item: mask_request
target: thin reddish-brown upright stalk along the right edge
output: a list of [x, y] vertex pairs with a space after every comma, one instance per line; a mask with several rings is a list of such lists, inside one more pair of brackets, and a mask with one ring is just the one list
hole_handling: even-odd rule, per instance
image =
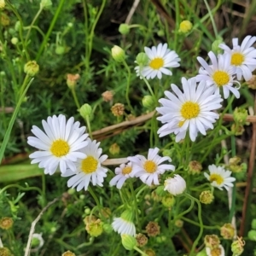
[[[254, 113], [256, 112], [256, 96], [254, 98]], [[250, 158], [249, 158], [249, 165], [248, 165], [248, 172], [247, 172], [247, 187], [245, 190], [243, 206], [242, 206], [242, 214], [241, 214], [241, 226], [239, 230], [240, 236], [243, 236], [245, 225], [246, 225], [246, 216], [247, 216], [247, 204], [248, 204], [248, 197], [250, 195], [251, 184], [253, 181], [253, 169], [255, 165], [255, 146], [256, 146], [256, 124], [253, 124], [253, 135], [251, 139], [251, 150], [250, 151]]]

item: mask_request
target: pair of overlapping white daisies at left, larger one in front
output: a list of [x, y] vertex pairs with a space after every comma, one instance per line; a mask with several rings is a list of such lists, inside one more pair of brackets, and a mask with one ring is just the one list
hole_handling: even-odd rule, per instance
[[86, 128], [74, 122], [73, 117], [66, 121], [63, 114], [48, 117], [47, 121], [42, 121], [42, 125], [44, 131], [33, 125], [35, 137], [27, 138], [29, 145], [39, 149], [29, 155], [32, 164], [38, 163], [40, 168], [44, 168], [44, 173], [49, 175], [60, 170], [61, 177], [71, 177], [67, 186], [77, 187], [78, 191], [87, 190], [90, 182], [94, 186], [102, 186], [108, 172], [102, 162], [108, 156], [102, 155], [100, 143], [90, 140], [85, 133]]

